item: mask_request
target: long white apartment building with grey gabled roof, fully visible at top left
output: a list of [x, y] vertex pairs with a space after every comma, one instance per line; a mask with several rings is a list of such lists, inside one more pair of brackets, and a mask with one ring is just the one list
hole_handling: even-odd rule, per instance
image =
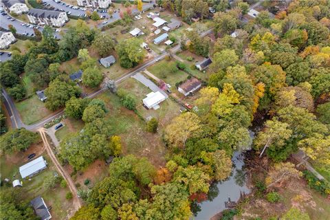
[[66, 12], [32, 8], [28, 12], [30, 23], [62, 27], [69, 19]]

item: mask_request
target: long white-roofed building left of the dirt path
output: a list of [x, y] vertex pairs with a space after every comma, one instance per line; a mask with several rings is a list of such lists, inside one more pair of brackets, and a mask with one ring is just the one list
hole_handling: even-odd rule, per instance
[[47, 162], [43, 159], [43, 156], [41, 156], [21, 166], [19, 168], [19, 173], [21, 173], [24, 179], [25, 177], [33, 177], [42, 170], [45, 170], [45, 168], [47, 168]]

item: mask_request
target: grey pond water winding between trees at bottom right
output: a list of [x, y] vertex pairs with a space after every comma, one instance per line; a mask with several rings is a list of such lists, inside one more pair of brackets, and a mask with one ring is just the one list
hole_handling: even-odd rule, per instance
[[225, 201], [237, 201], [241, 192], [248, 194], [250, 189], [246, 186], [246, 173], [244, 170], [244, 153], [235, 152], [232, 157], [232, 174], [224, 181], [214, 182], [210, 186], [208, 200], [195, 203], [192, 207], [197, 212], [195, 220], [208, 220], [215, 214], [225, 210]]

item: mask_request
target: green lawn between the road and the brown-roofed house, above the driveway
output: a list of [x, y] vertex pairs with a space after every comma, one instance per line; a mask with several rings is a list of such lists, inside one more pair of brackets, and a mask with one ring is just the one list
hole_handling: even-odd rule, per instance
[[175, 73], [169, 72], [168, 65], [172, 63], [174, 63], [174, 61], [159, 61], [159, 63], [148, 67], [148, 71], [151, 72], [151, 74], [157, 76], [158, 78], [164, 80], [172, 87], [175, 87], [175, 83], [179, 83], [180, 81], [186, 80], [188, 74], [180, 70]]

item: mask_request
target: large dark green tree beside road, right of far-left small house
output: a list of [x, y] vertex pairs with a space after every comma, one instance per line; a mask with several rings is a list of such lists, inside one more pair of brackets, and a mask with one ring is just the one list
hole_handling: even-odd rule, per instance
[[65, 106], [65, 102], [72, 97], [78, 97], [81, 91], [69, 77], [60, 75], [53, 80], [49, 87], [45, 89], [45, 96], [47, 96], [45, 106], [52, 111]]

